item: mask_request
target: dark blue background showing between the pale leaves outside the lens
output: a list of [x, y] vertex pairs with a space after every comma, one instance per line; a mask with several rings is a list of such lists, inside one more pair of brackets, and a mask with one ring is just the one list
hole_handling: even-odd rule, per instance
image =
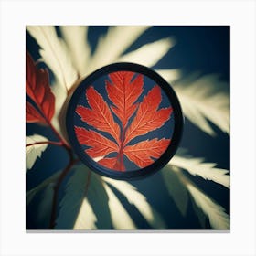
[[[107, 27], [89, 28], [89, 42], [92, 50], [95, 49], [99, 37], [106, 32]], [[214, 73], [219, 74], [220, 80], [229, 83], [228, 26], [151, 27], [127, 49], [127, 52], [164, 37], [175, 37], [176, 46], [153, 69], [182, 69], [184, 76], [193, 72], [199, 72], [201, 75]], [[34, 59], [38, 59], [36, 41], [28, 34], [26, 38], [27, 50]], [[181, 147], [186, 148], [189, 155], [204, 157], [207, 162], [218, 163], [218, 167], [229, 169], [229, 135], [222, 133], [214, 125], [213, 127], [217, 133], [215, 137], [202, 133], [194, 124], [186, 120]], [[27, 135], [33, 133], [41, 133], [49, 139], [55, 139], [46, 127], [41, 128], [35, 124], [27, 124]], [[63, 168], [67, 161], [68, 158], [65, 151], [49, 146], [48, 150], [42, 155], [42, 159], [38, 159], [33, 169], [27, 173], [27, 189], [35, 187], [45, 177]], [[198, 176], [189, 177], [229, 213], [229, 189], [221, 187], [214, 182], [205, 181]], [[154, 176], [146, 177], [144, 180], [131, 183], [133, 186], [138, 187], [139, 191], [148, 198], [149, 203], [162, 214], [168, 229], [200, 229], [191, 202], [188, 205], [187, 217], [182, 217], [173, 199], [168, 196], [161, 174], [157, 173]], [[124, 206], [132, 214], [138, 227], [140, 229], [149, 229], [137, 209], [128, 207], [127, 199], [120, 195], [118, 191], [116, 193], [123, 200]], [[46, 223], [35, 222], [34, 211], [35, 207], [27, 208], [27, 228], [44, 228]]]

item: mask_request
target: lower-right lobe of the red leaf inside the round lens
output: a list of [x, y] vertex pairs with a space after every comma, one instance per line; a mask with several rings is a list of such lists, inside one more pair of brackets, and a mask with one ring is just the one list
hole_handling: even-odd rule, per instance
[[127, 145], [123, 149], [123, 153], [134, 164], [143, 168], [147, 165], [151, 165], [155, 160], [152, 157], [158, 159], [166, 150], [170, 144], [170, 139], [153, 139], [146, 140], [134, 145]]

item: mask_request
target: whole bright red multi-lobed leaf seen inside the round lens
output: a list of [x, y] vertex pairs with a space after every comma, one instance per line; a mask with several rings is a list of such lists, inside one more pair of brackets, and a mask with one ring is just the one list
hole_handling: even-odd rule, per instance
[[[91, 129], [75, 126], [79, 143], [88, 147], [85, 153], [98, 164], [116, 171], [126, 170], [124, 155], [140, 168], [151, 165], [171, 142], [166, 138], [139, 139], [162, 127], [171, 117], [171, 107], [159, 109], [161, 88], [155, 85], [143, 97], [143, 75], [118, 71], [109, 75], [105, 89], [112, 104], [90, 86], [85, 91], [90, 107], [79, 105], [76, 108], [80, 120], [91, 126]], [[120, 123], [116, 122], [117, 118]], [[111, 137], [106, 137], [106, 133]], [[136, 143], [133, 143], [135, 138]]]

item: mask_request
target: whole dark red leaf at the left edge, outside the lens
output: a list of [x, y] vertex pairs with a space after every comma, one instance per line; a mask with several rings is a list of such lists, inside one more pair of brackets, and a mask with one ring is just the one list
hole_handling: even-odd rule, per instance
[[26, 102], [27, 123], [49, 123], [55, 111], [55, 98], [49, 87], [48, 70], [37, 65], [26, 52], [26, 93], [34, 101], [34, 107]]

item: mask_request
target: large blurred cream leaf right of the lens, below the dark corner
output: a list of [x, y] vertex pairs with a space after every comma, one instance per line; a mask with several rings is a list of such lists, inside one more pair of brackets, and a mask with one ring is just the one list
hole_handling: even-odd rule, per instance
[[210, 123], [229, 133], [229, 86], [216, 75], [205, 75], [174, 84], [183, 112], [202, 131], [214, 135]]

